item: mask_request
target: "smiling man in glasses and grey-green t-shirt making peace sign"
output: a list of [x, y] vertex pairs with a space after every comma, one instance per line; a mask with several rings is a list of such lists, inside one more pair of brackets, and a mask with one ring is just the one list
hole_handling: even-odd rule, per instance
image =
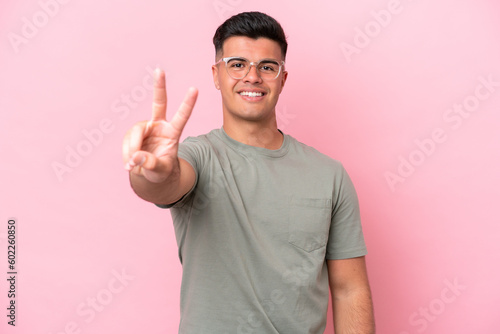
[[[277, 21], [231, 17], [215, 33], [223, 126], [179, 144], [197, 90], [124, 140], [138, 196], [171, 208], [183, 265], [179, 333], [374, 333], [356, 193], [342, 165], [277, 128], [287, 42]], [[329, 283], [329, 284], [328, 284]]]

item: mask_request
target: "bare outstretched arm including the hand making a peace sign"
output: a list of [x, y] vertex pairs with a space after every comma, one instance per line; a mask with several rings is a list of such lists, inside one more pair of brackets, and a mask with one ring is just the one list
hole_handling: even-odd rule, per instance
[[135, 124], [123, 141], [123, 160], [130, 185], [142, 199], [156, 204], [179, 200], [194, 185], [193, 167], [177, 156], [179, 140], [196, 102], [196, 89], [188, 90], [170, 122], [166, 120], [165, 73], [156, 70], [153, 117]]

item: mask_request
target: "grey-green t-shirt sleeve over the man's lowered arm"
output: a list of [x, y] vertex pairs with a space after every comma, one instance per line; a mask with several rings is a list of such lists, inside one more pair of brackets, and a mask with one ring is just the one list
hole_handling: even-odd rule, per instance
[[361, 227], [358, 196], [343, 166], [335, 178], [334, 192], [326, 258], [338, 260], [364, 256], [367, 249]]

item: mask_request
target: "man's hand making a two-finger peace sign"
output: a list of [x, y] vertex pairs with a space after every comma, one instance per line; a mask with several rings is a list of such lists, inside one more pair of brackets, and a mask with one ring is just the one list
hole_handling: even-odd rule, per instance
[[189, 88], [179, 109], [167, 122], [167, 90], [165, 73], [155, 70], [153, 117], [135, 124], [123, 140], [123, 160], [130, 173], [160, 183], [179, 171], [177, 151], [182, 130], [198, 97], [196, 88]]

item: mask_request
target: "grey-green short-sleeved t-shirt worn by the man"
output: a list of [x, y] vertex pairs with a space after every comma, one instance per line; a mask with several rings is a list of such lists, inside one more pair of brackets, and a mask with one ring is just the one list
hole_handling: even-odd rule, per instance
[[193, 189], [170, 207], [183, 266], [181, 334], [323, 334], [326, 259], [363, 256], [343, 166], [289, 135], [281, 148], [223, 129], [187, 138]]

